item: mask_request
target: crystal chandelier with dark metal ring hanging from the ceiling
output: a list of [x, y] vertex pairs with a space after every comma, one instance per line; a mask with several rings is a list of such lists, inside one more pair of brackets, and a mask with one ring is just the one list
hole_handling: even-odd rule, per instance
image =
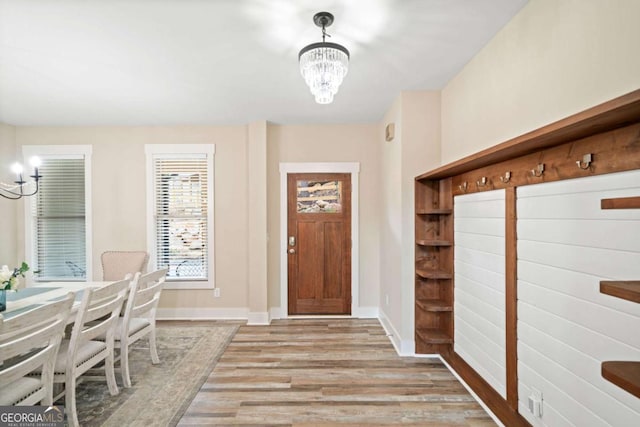
[[325, 37], [331, 37], [325, 28], [333, 23], [332, 14], [316, 13], [313, 22], [322, 28], [322, 42], [312, 43], [300, 51], [300, 72], [316, 102], [331, 104], [349, 71], [349, 51], [342, 45], [324, 41]]

